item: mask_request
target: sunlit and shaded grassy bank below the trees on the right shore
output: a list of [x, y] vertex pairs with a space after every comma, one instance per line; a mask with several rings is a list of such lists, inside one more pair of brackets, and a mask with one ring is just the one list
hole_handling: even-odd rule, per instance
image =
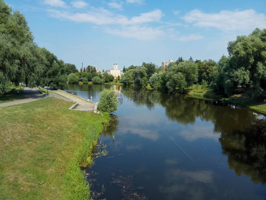
[[185, 92], [188, 96], [194, 98], [223, 100], [230, 104], [246, 106], [250, 109], [266, 114], [266, 104], [264, 103], [265, 97], [263, 96], [251, 100], [245, 93], [240, 93], [224, 98], [221, 94], [213, 92], [210, 87], [201, 88], [201, 85], [193, 85], [187, 88]]

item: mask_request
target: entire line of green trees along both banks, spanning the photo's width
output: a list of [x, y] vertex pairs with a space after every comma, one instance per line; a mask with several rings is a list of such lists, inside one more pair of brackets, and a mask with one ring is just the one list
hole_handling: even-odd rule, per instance
[[[166, 92], [183, 92], [192, 84], [200, 84], [227, 96], [239, 88], [251, 98], [264, 94], [266, 29], [256, 28], [248, 36], [237, 36], [228, 43], [227, 50], [229, 56], [221, 56], [218, 62], [179, 57], [165, 68], [152, 62], [124, 67], [121, 82], [136, 87], [147, 87], [150, 83], [152, 88]], [[106, 72], [97, 73], [90, 65], [78, 72], [74, 64], [64, 63], [47, 49], [38, 47], [24, 15], [0, 0], [0, 95], [19, 83], [64, 89], [67, 81], [101, 84], [114, 81], [114, 77]]]

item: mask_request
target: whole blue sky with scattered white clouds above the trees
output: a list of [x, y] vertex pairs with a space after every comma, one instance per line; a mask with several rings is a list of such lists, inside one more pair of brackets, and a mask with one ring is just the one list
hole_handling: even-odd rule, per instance
[[[218, 61], [237, 35], [266, 28], [266, 1], [6, 0], [24, 13], [40, 47], [80, 69]], [[78, 46], [74, 41], [80, 46]], [[82, 49], [95, 61], [93, 61]]]

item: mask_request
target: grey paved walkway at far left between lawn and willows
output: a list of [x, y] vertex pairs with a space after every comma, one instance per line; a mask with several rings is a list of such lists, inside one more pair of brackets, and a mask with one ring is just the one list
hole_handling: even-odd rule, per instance
[[35, 88], [30, 90], [29, 87], [24, 87], [24, 94], [25, 94], [24, 99], [19, 99], [19, 100], [14, 100], [14, 101], [2, 103], [2, 104], [0, 104], [0, 108], [6, 107], [6, 106], [11, 106], [11, 105], [24, 104], [24, 103], [36, 101], [38, 99], [42, 99], [45, 97], [39, 91], [37, 91]]

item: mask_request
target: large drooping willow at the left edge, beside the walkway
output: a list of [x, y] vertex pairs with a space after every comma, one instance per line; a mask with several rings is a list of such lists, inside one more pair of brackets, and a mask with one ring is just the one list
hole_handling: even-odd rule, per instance
[[37, 85], [44, 61], [25, 17], [0, 0], [0, 94], [10, 91], [11, 82]]

